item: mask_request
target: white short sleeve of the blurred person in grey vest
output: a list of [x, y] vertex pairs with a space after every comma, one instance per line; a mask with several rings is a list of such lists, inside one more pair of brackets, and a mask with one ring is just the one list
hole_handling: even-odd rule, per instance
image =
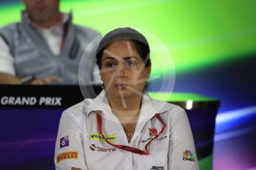
[[6, 72], [10, 75], [16, 75], [13, 66], [13, 56], [10, 54], [10, 49], [0, 36], [0, 72]]

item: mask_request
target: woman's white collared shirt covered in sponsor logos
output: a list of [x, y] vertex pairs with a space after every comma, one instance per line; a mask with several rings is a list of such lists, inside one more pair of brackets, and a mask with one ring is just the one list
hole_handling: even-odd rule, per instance
[[[114, 144], [145, 150], [146, 144], [160, 133], [163, 123], [154, 115], [160, 113], [165, 131], [149, 146], [149, 155], [136, 154], [106, 143], [100, 135], [96, 112], [102, 112], [102, 132]], [[142, 98], [140, 117], [130, 143], [118, 118], [111, 112], [105, 90], [95, 99], [85, 99], [62, 113], [56, 139], [56, 169], [198, 169], [191, 128], [184, 109], [156, 101], [146, 93]]]

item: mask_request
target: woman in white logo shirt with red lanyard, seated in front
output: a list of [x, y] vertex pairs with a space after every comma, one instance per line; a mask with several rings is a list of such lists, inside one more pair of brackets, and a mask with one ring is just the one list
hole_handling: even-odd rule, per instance
[[131, 28], [99, 43], [103, 82], [94, 99], [65, 110], [56, 140], [56, 169], [198, 169], [186, 112], [151, 99], [145, 37]]

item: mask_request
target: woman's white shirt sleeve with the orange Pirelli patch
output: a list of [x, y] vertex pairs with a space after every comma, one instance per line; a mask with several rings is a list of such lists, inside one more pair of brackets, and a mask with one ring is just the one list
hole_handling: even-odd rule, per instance
[[72, 167], [88, 170], [85, 165], [82, 128], [70, 112], [63, 112], [56, 138], [54, 163], [56, 169]]

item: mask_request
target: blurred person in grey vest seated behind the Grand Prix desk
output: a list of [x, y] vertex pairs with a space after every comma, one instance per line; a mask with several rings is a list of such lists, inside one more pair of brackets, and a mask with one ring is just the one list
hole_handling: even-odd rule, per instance
[[[22, 21], [0, 29], [0, 84], [78, 84], [82, 55], [99, 33], [72, 24], [59, 0], [23, 0]], [[96, 46], [96, 44], [95, 44]], [[88, 72], [88, 82], [96, 81]]]

